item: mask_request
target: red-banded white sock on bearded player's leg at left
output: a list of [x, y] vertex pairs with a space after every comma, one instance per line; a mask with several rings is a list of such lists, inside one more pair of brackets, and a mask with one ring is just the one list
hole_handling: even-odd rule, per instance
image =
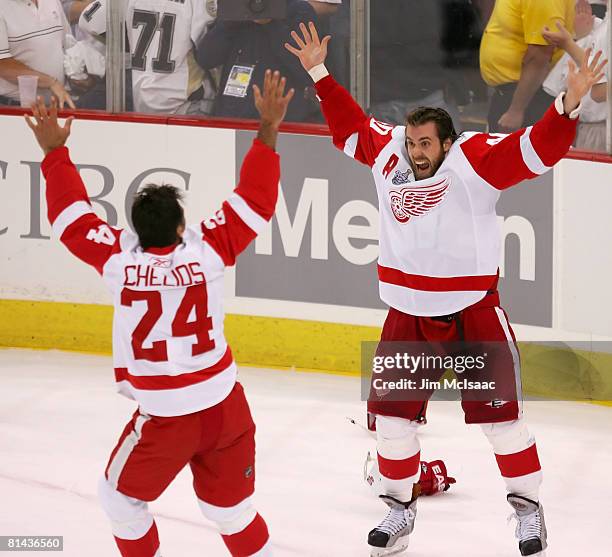
[[378, 469], [385, 495], [402, 502], [412, 499], [421, 475], [418, 424], [402, 418], [377, 416]]

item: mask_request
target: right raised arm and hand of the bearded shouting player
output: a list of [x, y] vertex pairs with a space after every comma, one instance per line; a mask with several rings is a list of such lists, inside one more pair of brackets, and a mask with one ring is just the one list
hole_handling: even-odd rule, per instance
[[569, 150], [578, 123], [579, 105], [603, 76], [607, 60], [601, 51], [589, 63], [591, 50], [580, 69], [569, 61], [567, 92], [533, 126], [510, 135], [476, 134], [461, 144], [474, 171], [497, 189], [505, 189], [550, 170]]

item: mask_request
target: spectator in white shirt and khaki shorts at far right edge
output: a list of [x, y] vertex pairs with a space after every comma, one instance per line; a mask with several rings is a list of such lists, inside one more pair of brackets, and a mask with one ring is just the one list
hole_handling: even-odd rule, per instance
[[[578, 32], [576, 26], [577, 41], [574, 41], [569, 31], [560, 23], [556, 30], [546, 27], [542, 34], [546, 40], [565, 51], [563, 57], [557, 62], [549, 76], [544, 81], [544, 89], [551, 95], [557, 95], [567, 89], [567, 75], [569, 72], [569, 60], [579, 63], [584, 57], [585, 50], [591, 48], [593, 52], [601, 50], [603, 58], [609, 58], [610, 38], [608, 35], [608, 17], [605, 19], [594, 18], [591, 6], [586, 0], [579, 1], [576, 5], [576, 23], [579, 18], [585, 18], [585, 23], [590, 21], [588, 34]], [[583, 35], [580, 38], [580, 35]], [[608, 73], [609, 73], [608, 68]], [[598, 84], [593, 86], [590, 95], [582, 99], [580, 111], [580, 122], [576, 133], [575, 147], [587, 151], [606, 150], [606, 120], [608, 118], [607, 79], [604, 77]]]

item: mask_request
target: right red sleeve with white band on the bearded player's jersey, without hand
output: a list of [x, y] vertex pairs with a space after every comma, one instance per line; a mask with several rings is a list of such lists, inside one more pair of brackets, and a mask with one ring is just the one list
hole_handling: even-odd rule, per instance
[[579, 109], [569, 116], [563, 93], [533, 126], [509, 135], [478, 133], [461, 144], [476, 173], [503, 190], [548, 172], [569, 151], [576, 135]]

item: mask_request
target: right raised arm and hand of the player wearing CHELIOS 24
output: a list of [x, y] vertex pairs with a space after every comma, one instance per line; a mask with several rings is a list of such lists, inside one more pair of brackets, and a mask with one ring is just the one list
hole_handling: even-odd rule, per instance
[[275, 152], [278, 128], [295, 91], [285, 95], [286, 79], [266, 71], [263, 92], [253, 86], [255, 106], [261, 116], [259, 133], [240, 170], [240, 182], [221, 210], [202, 221], [202, 238], [233, 265], [236, 257], [272, 218], [278, 198], [280, 162]]

